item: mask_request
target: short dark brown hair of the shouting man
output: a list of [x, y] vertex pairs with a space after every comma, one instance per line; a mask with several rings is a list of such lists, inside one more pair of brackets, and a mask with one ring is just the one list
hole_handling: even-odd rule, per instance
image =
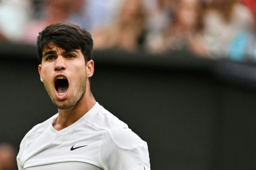
[[93, 39], [84, 28], [68, 22], [47, 26], [37, 37], [38, 59], [42, 63], [43, 49], [52, 42], [64, 50], [81, 49], [85, 62], [92, 59]]

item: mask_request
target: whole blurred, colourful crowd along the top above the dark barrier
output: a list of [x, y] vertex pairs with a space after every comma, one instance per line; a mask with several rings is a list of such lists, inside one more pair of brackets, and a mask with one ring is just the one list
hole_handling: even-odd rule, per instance
[[35, 45], [47, 25], [86, 28], [94, 49], [256, 61], [255, 0], [0, 0], [0, 40]]

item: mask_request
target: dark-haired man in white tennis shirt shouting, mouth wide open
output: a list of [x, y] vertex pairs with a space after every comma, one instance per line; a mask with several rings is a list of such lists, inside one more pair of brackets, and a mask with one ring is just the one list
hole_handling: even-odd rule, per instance
[[39, 33], [37, 47], [40, 79], [58, 113], [25, 135], [19, 169], [150, 170], [147, 143], [91, 94], [91, 35], [55, 23]]

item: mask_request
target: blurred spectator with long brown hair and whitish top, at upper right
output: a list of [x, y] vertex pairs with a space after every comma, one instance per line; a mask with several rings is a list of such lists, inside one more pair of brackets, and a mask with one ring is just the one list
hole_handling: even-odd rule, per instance
[[252, 23], [250, 11], [239, 0], [209, 1], [202, 36], [209, 56], [216, 59], [226, 57], [237, 32], [250, 30]]

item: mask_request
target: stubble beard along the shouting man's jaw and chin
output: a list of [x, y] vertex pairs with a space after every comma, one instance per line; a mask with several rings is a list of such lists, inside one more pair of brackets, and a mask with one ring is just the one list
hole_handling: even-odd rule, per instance
[[69, 109], [69, 108], [72, 108], [74, 105], [78, 104], [83, 99], [86, 92], [86, 78], [82, 82], [80, 82], [79, 87], [77, 88], [78, 89], [77, 96], [73, 96], [67, 104], [58, 104], [58, 102], [53, 98], [55, 91], [52, 91], [51, 88], [46, 83], [44, 83], [44, 87], [49, 97], [51, 98], [51, 100], [53, 101], [53, 103], [56, 105], [58, 109]]

